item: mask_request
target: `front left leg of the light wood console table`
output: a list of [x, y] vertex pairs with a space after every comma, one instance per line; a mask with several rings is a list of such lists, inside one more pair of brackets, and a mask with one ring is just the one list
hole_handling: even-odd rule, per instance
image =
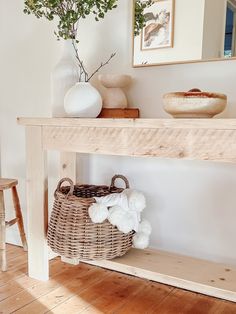
[[42, 127], [26, 128], [28, 272], [48, 280], [49, 261], [46, 232], [48, 226], [47, 155], [43, 149]]

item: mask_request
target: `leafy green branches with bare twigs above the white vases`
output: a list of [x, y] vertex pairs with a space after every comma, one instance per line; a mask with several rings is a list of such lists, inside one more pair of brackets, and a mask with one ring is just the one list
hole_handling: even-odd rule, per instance
[[49, 21], [58, 19], [57, 31], [55, 35], [57, 39], [72, 39], [75, 50], [75, 56], [80, 69], [80, 79], [84, 76], [88, 81], [102, 67], [105, 66], [114, 56], [101, 63], [101, 65], [88, 75], [83, 62], [81, 61], [77, 49], [78, 26], [81, 19], [85, 19], [88, 15], [93, 14], [95, 20], [103, 19], [108, 11], [117, 7], [118, 0], [24, 0], [24, 13], [34, 14], [37, 18], [46, 18]]

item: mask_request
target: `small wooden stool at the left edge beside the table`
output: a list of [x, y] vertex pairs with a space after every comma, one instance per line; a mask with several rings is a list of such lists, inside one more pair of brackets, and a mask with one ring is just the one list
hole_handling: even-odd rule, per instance
[[[18, 229], [20, 232], [21, 241], [23, 244], [23, 248], [27, 251], [27, 242], [25, 237], [24, 231], [24, 224], [23, 218], [20, 208], [20, 201], [16, 189], [16, 185], [18, 181], [15, 179], [2, 179], [0, 178], [0, 259], [1, 263], [1, 270], [7, 270], [7, 262], [6, 262], [6, 227], [10, 227], [17, 223]], [[3, 191], [11, 189], [12, 192], [12, 199], [15, 208], [16, 218], [12, 219], [11, 221], [5, 221], [5, 206], [4, 206], [4, 195]]]

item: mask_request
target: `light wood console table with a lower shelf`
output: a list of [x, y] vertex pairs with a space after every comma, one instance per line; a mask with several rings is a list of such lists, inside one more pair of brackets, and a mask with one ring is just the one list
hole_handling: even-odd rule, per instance
[[[47, 151], [75, 180], [76, 153], [236, 162], [236, 119], [19, 118], [26, 127], [29, 276], [47, 280]], [[132, 249], [94, 265], [236, 302], [236, 267], [158, 250]]]

